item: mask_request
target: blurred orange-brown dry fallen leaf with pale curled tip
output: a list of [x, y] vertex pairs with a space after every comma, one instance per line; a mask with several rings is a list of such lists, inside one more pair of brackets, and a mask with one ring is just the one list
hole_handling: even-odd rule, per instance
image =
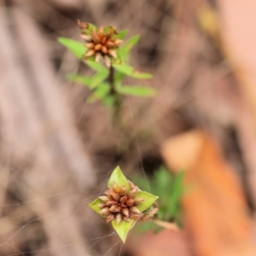
[[162, 155], [172, 170], [186, 170], [183, 210], [195, 253], [256, 255], [239, 178], [218, 143], [204, 131], [190, 131], [167, 140]]

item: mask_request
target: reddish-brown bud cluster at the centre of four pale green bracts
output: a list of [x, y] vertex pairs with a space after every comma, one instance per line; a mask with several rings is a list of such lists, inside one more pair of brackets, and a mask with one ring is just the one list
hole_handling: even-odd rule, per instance
[[143, 213], [137, 208], [141, 202], [144, 201], [143, 198], [136, 198], [138, 187], [129, 181], [130, 191], [126, 191], [125, 186], [119, 188], [117, 184], [114, 184], [113, 188], [110, 188], [104, 192], [105, 195], [99, 196], [102, 200], [102, 204], [98, 207], [102, 208], [101, 214], [107, 217], [106, 222], [112, 221], [114, 218], [116, 222], [119, 223], [122, 219], [129, 222], [129, 218], [143, 217]]

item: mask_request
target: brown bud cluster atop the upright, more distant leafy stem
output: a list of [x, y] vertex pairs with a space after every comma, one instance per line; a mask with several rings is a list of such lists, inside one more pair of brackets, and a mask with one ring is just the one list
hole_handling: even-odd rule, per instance
[[85, 46], [87, 51], [84, 57], [90, 57], [95, 55], [95, 61], [103, 59], [107, 67], [110, 67], [111, 57], [117, 58], [116, 49], [119, 44], [123, 42], [116, 38], [117, 32], [113, 27], [109, 28], [108, 32], [104, 32], [103, 28], [95, 29], [92, 32], [88, 31], [89, 24], [81, 20], [78, 20], [78, 24], [81, 30], [81, 38], [86, 41]]

